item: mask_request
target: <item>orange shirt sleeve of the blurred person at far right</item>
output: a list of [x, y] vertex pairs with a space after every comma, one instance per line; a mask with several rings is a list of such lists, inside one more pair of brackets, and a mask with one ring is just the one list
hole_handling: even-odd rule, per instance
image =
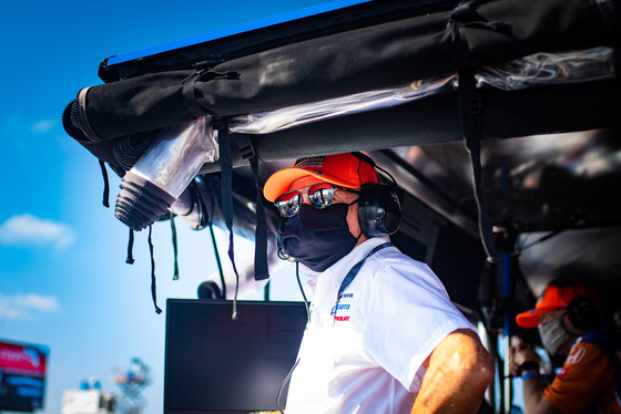
[[583, 413], [601, 399], [614, 375], [602, 350], [590, 342], [578, 342], [543, 396], [563, 413]]

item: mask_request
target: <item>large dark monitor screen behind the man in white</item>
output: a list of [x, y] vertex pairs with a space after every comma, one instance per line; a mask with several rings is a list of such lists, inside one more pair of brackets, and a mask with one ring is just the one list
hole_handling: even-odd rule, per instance
[[[169, 299], [164, 414], [277, 410], [307, 317], [303, 302]], [[281, 405], [286, 404], [287, 387]]]

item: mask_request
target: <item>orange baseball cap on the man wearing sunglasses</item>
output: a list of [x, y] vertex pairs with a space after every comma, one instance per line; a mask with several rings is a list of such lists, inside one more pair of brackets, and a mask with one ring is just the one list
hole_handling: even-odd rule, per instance
[[267, 178], [263, 195], [267, 200], [275, 201], [289, 190], [293, 182], [306, 176], [345, 188], [360, 188], [365, 183], [377, 183], [377, 174], [371, 164], [352, 153], [345, 153], [297, 159], [293, 167], [281, 169]]

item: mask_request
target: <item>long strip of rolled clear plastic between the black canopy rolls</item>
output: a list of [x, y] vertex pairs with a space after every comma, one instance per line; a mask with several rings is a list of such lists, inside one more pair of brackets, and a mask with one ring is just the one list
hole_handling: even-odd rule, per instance
[[[476, 72], [477, 87], [505, 91], [540, 85], [593, 82], [614, 77], [613, 49], [600, 46], [566, 53], [536, 53], [508, 63], [483, 66]], [[389, 90], [369, 91], [333, 100], [235, 116], [228, 127], [234, 133], [268, 134], [330, 117], [400, 105], [457, 89], [457, 73], [411, 82]]]

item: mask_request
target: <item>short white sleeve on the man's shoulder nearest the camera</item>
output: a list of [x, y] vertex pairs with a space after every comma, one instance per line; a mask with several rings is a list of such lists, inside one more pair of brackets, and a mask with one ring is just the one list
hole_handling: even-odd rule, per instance
[[[379, 259], [379, 258], [378, 258]], [[457, 329], [472, 327], [450, 302], [444, 284], [425, 263], [388, 256], [369, 263], [363, 335], [365, 349], [408, 391], [436, 346]]]

